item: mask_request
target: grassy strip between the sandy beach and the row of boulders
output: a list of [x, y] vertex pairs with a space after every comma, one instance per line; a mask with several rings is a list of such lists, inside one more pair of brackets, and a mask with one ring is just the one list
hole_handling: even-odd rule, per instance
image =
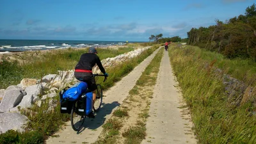
[[[134, 50], [133, 47], [120, 47], [119, 49], [97, 49], [100, 60], [112, 58]], [[0, 62], [0, 89], [12, 84], [19, 84], [22, 78], [40, 79], [47, 74], [58, 74], [58, 70], [74, 69], [81, 54], [88, 49], [65, 49], [42, 54], [40, 51], [24, 52], [23, 63], [3, 60]], [[34, 56], [34, 55], [41, 56]]]

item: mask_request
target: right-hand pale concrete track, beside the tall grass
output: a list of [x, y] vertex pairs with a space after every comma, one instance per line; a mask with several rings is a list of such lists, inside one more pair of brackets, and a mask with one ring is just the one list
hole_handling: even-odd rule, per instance
[[175, 87], [168, 52], [164, 51], [147, 119], [147, 137], [142, 143], [196, 143], [188, 109], [180, 109], [182, 95]]

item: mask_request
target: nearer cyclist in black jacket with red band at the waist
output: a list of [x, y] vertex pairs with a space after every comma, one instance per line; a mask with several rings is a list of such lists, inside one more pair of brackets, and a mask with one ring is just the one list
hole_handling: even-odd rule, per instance
[[[79, 81], [85, 81], [88, 84], [88, 89], [93, 92], [93, 106], [96, 100], [97, 89], [95, 77], [92, 76], [92, 68], [95, 66], [95, 64], [97, 64], [104, 76], [108, 77], [108, 73], [106, 73], [104, 67], [102, 66], [97, 53], [98, 52], [95, 47], [90, 47], [88, 53], [81, 55], [74, 72], [76, 79]], [[94, 118], [93, 113], [90, 113], [90, 116]]]

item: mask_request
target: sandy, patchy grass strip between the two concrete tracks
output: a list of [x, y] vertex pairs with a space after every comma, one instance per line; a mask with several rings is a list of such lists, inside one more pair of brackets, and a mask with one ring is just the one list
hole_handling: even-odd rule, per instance
[[122, 105], [104, 124], [95, 144], [98, 143], [141, 143], [145, 139], [146, 122], [152, 99], [154, 85], [163, 57], [163, 49], [157, 52], [154, 59], [142, 73], [136, 85], [129, 92]]

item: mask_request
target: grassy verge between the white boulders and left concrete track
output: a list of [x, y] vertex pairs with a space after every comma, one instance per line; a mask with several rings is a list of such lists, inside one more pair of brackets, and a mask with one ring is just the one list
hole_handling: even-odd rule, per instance
[[[103, 79], [101, 78], [97, 79], [97, 83], [102, 84], [104, 89], [113, 86], [116, 81], [119, 81], [122, 77], [129, 74], [129, 72], [131, 72], [131, 70], [136, 67], [136, 65], [141, 63], [141, 61], [143, 61], [145, 58], [147, 58], [147, 56], [152, 54], [152, 52], [154, 52], [158, 47], [158, 45], [155, 45], [151, 49], [148, 49], [141, 53], [140, 56], [132, 58], [125, 63], [121, 63], [116, 67], [107, 69], [109, 77], [106, 83], [103, 83]], [[129, 63], [132, 64], [128, 65]], [[57, 104], [57, 107], [54, 108], [53, 111], [48, 111], [49, 103], [47, 102], [47, 100], [42, 104], [41, 107], [38, 107], [35, 104], [32, 108], [29, 109], [29, 111], [21, 111], [21, 113], [28, 116], [29, 119], [28, 125], [26, 125], [26, 130], [28, 130], [26, 133], [31, 134], [31, 136], [33, 136], [33, 132], [36, 132], [36, 134], [39, 133], [40, 136], [42, 136], [42, 138], [46, 140], [48, 136], [51, 136], [52, 134], [54, 134], [54, 132], [58, 131], [58, 129], [60, 129], [64, 122], [68, 120], [69, 115], [60, 113], [60, 97], [56, 95], [56, 97], [54, 97], [54, 100]], [[10, 132], [12, 131], [8, 131], [6, 132], [6, 134], [9, 134]], [[6, 134], [0, 134], [0, 143], [1, 140], [9, 140], [8, 137], [6, 137]], [[19, 132], [15, 132], [14, 134], [19, 136], [20, 138], [24, 138], [22, 137], [23, 135]], [[13, 139], [11, 139], [10, 141], [12, 140]], [[20, 143], [20, 139], [18, 138], [17, 141], [15, 141], [14, 143]], [[37, 142], [31, 141], [31, 143]]]

